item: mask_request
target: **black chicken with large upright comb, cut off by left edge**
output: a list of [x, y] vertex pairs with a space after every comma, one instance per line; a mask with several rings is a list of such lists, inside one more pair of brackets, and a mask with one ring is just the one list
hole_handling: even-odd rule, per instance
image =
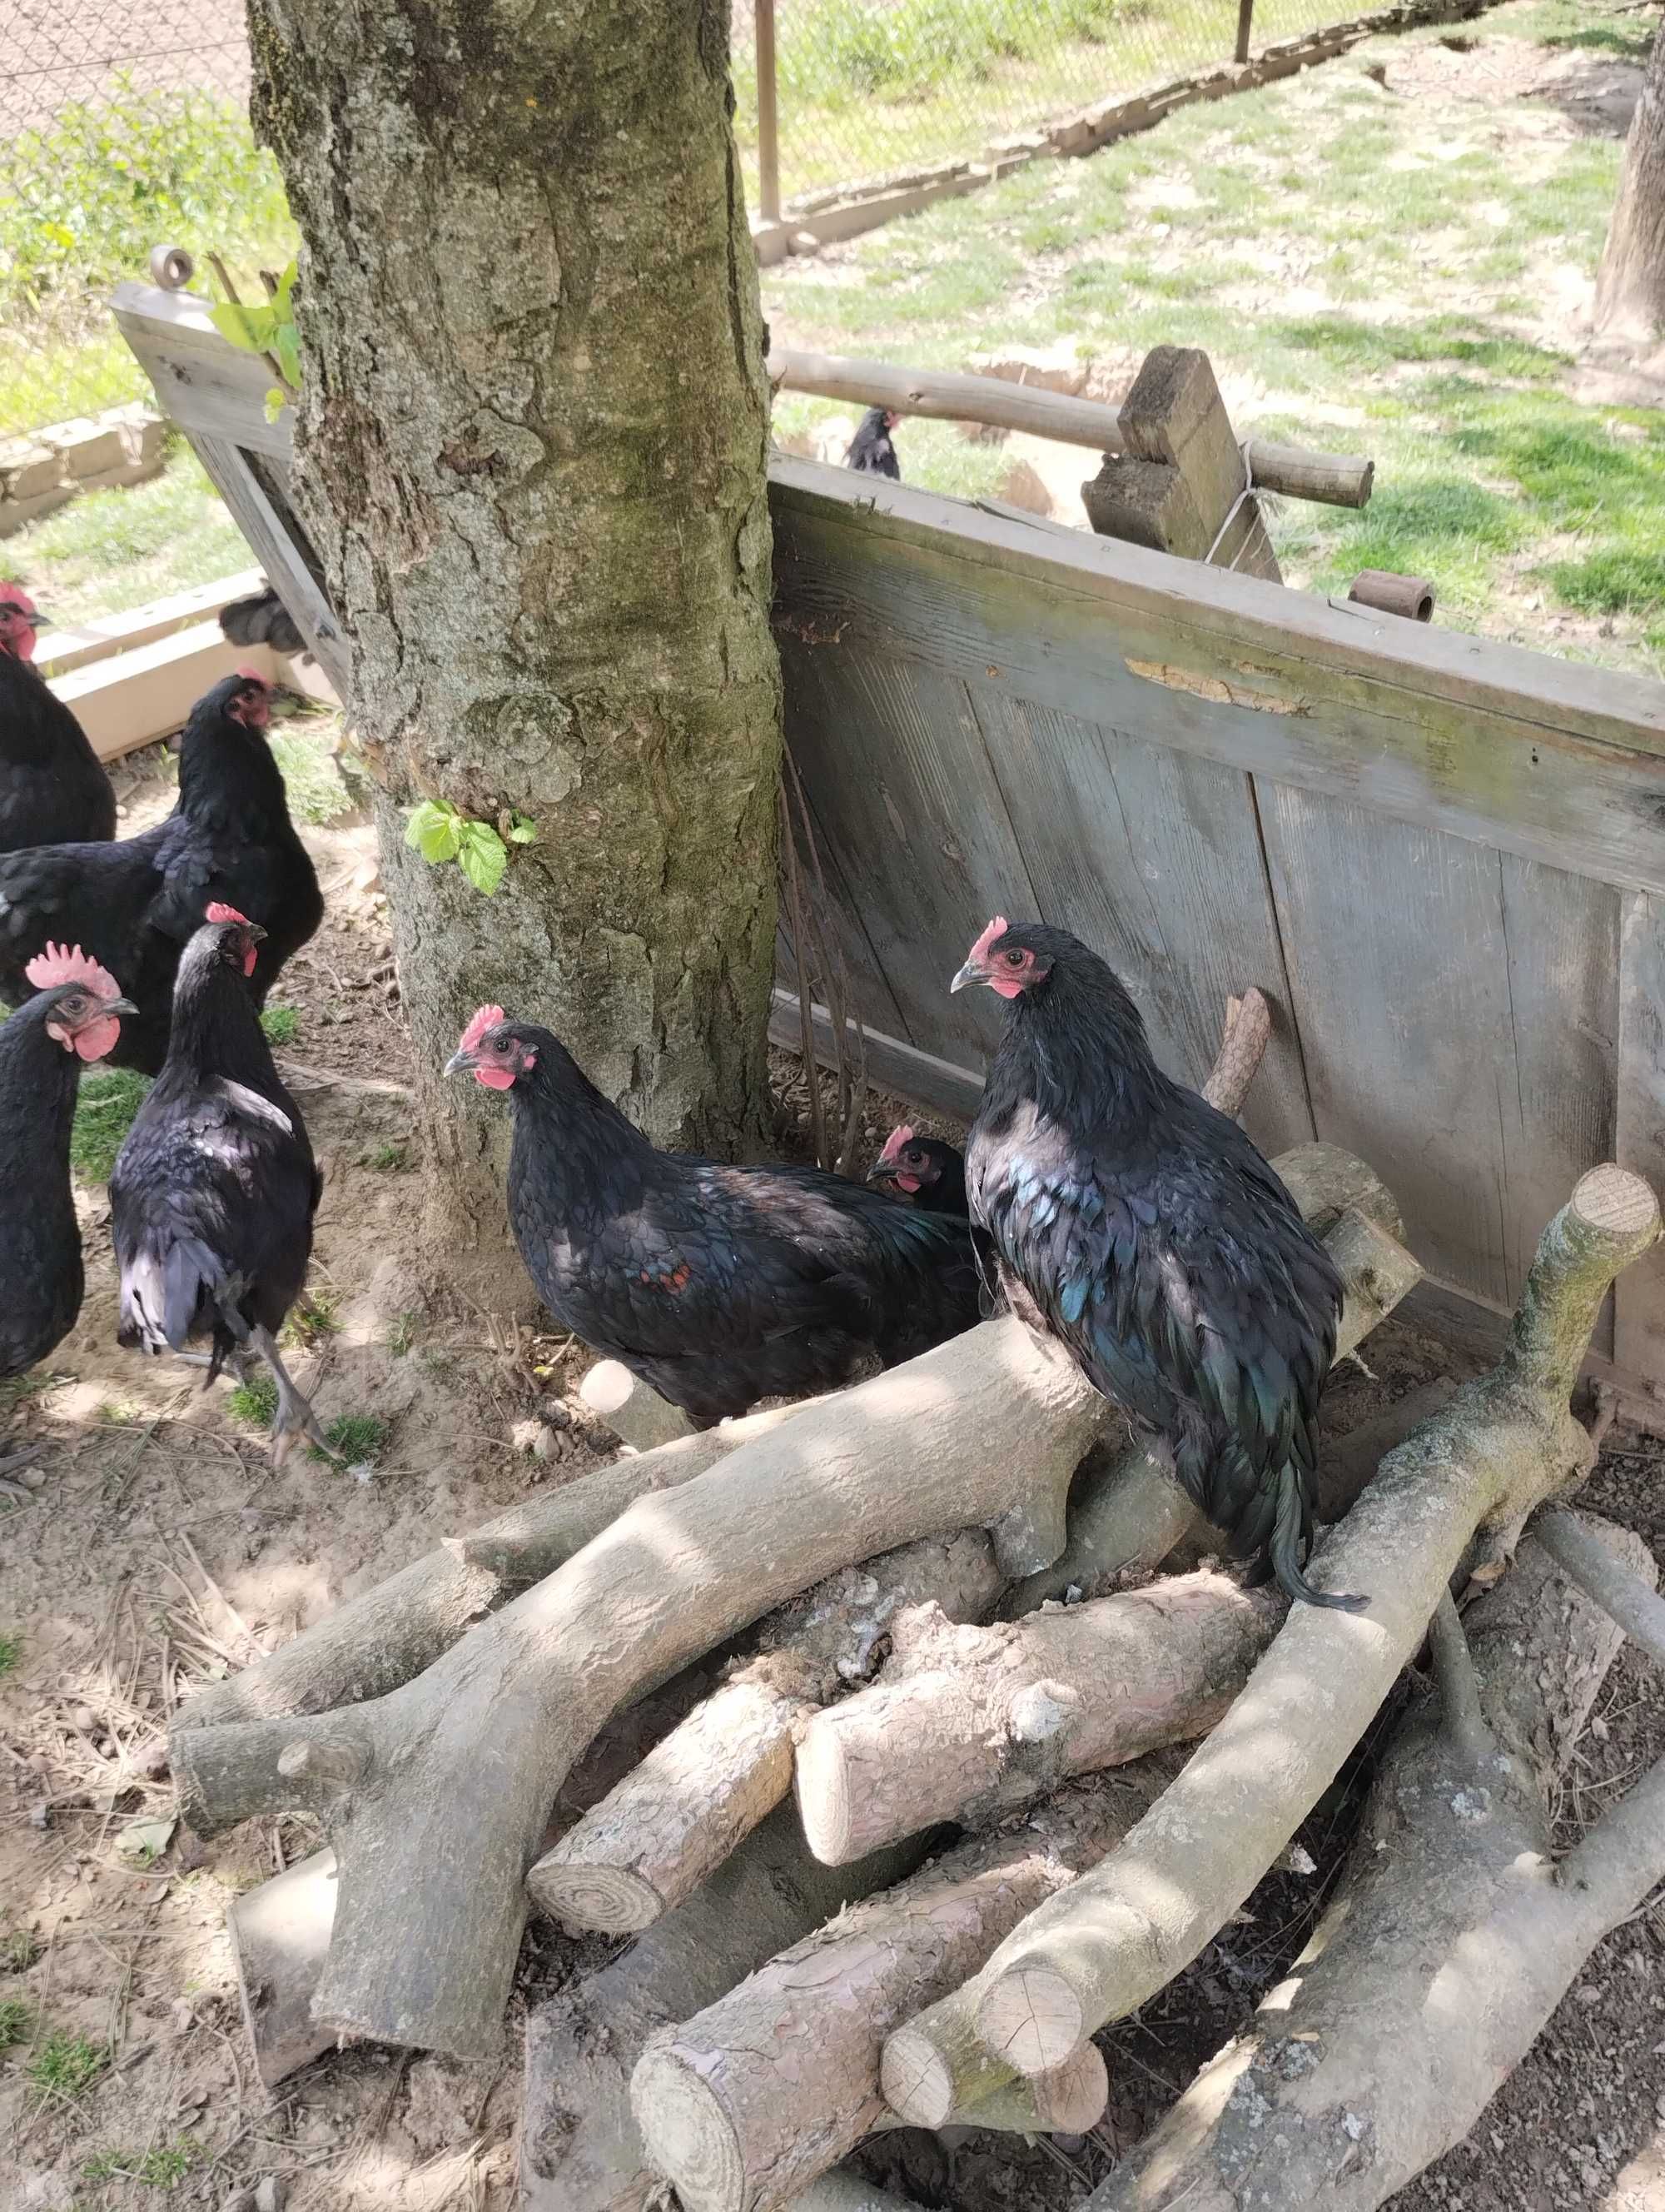
[[49, 945], [27, 982], [35, 995], [0, 1029], [0, 1380], [44, 1360], [82, 1310], [69, 1188], [75, 1082], [133, 1013], [115, 975], [80, 945]]

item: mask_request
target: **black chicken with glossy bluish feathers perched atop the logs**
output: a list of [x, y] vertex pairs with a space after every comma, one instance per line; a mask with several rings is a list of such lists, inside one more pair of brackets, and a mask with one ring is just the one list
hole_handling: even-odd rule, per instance
[[[966, 1146], [973, 1221], [1081, 1371], [1294, 1597], [1340, 1276], [1236, 1121], [1170, 1082], [1079, 938], [995, 918], [953, 978], [1013, 1002]], [[1017, 1298], [1019, 1310], [1026, 1301]]]

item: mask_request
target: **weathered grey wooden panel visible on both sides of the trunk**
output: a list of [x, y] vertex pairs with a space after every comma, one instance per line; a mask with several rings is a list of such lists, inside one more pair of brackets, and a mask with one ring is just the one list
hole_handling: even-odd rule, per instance
[[[345, 686], [263, 367], [186, 294], [115, 305]], [[1665, 688], [814, 462], [776, 458], [772, 511], [876, 1084], [971, 1110], [993, 1009], [949, 975], [991, 914], [1039, 914], [1192, 1082], [1227, 993], [1276, 1000], [1249, 1126], [1380, 1170], [1448, 1332], [1497, 1334], [1583, 1170], [1665, 1188]], [[1596, 1352], [1665, 1387], [1658, 1252]]]

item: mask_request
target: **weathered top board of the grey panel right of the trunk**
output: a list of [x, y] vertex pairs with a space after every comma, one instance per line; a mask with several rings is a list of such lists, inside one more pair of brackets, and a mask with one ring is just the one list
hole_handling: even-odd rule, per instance
[[778, 456], [776, 626], [1665, 894], [1665, 688]]

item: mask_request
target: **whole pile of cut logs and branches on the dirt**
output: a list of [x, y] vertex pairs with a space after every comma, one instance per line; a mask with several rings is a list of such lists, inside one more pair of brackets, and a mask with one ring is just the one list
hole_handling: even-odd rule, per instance
[[[1256, 1004], [1227, 1026], [1227, 1110]], [[1331, 1148], [1278, 1168], [1344, 1276], [1349, 1352], [1417, 1281], [1397, 1208]], [[1010, 1314], [703, 1436], [601, 1376], [615, 1467], [447, 1540], [175, 1719], [199, 1834], [292, 1807], [329, 1832], [239, 1900], [261, 2077], [341, 2035], [495, 2055], [535, 1911], [635, 1942], [531, 2020], [533, 2212], [646, 2212], [666, 2183], [685, 2212], [858, 2203], [840, 2161], [882, 2128], [1083, 2135], [1108, 2097], [1092, 2037], [1243, 1907], [1431, 1637], [1439, 1699], [1393, 1741], [1294, 1986], [1097, 2199], [1382, 2203], [1665, 1876], [1661, 1774], [1585, 1838], [1577, 1891], [1543, 1814], [1608, 1617], [1665, 1650], [1643, 1562], [1554, 1513], [1506, 1577], [1592, 1464], [1572, 1385], [1658, 1230], [1645, 1183], [1585, 1175], [1499, 1365], [1331, 1455], [1309, 1573], [1369, 1593], [1358, 1615], [1291, 1613], [1210, 1562], [1163, 1467]], [[1159, 1573], [1176, 1546], [1203, 1564]], [[1453, 1586], [1486, 1593], [1466, 1626]], [[1484, 2048], [1462, 2004], [1424, 2002], [1462, 1975]], [[1380, 2017], [1420, 2053], [1415, 2093], [1366, 2064]], [[1249, 2095], [1289, 2126], [1245, 2143]], [[1371, 2157], [1338, 2159], [1322, 2115], [1371, 2097]]]

